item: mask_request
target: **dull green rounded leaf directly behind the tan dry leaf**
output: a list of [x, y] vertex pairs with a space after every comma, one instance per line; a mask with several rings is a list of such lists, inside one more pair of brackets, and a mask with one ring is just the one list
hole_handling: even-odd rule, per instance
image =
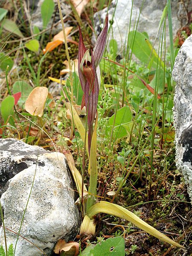
[[32, 90], [33, 88], [23, 80], [16, 81], [13, 84], [13, 93], [15, 94], [21, 92], [21, 97], [18, 101], [19, 106], [22, 106], [26, 102], [26, 99], [28, 98]]

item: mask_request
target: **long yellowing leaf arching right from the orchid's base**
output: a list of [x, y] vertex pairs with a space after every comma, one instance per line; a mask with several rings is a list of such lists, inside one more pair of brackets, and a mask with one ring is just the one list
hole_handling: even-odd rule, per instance
[[119, 206], [117, 204], [112, 204], [105, 201], [100, 201], [96, 204], [94, 204], [87, 212], [87, 215], [89, 217], [93, 217], [94, 215], [103, 212], [110, 215], [117, 216], [119, 218], [123, 218], [125, 220], [130, 221], [133, 223], [136, 227], [139, 227], [141, 230], [149, 233], [150, 235], [166, 242], [169, 244], [172, 244], [173, 246], [185, 248], [182, 245], [176, 243], [169, 237], [163, 235], [158, 230], [156, 230], [154, 227], [151, 227], [149, 224], [147, 224], [145, 221], [140, 219], [137, 215], [135, 215], [133, 212], [130, 212], [129, 210], [123, 208], [122, 206]]

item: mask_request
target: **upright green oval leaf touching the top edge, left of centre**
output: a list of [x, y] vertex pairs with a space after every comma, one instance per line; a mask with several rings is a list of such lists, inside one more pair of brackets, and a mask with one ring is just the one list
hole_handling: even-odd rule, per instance
[[44, 2], [41, 5], [41, 17], [43, 20], [43, 26], [44, 28], [47, 27], [52, 14], [54, 12], [54, 8], [55, 8], [55, 3], [53, 2], [53, 0], [44, 0]]

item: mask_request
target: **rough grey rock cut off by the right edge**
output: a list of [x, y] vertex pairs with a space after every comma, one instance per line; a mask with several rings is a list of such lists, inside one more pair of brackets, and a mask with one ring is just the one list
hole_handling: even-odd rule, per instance
[[176, 82], [174, 125], [177, 167], [192, 200], [192, 35], [180, 48], [172, 72]]

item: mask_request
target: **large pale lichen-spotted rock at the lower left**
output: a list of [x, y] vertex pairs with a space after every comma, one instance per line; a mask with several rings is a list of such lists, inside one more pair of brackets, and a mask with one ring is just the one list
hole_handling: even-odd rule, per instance
[[[0, 163], [0, 201], [5, 226], [18, 233], [26, 209], [20, 235], [47, 256], [58, 239], [73, 239], [80, 218], [64, 155], [19, 140], [1, 139]], [[15, 245], [14, 233], [6, 231], [6, 237], [8, 244]], [[29, 241], [19, 237], [15, 256], [42, 255]], [[2, 228], [0, 244], [4, 244]]]

